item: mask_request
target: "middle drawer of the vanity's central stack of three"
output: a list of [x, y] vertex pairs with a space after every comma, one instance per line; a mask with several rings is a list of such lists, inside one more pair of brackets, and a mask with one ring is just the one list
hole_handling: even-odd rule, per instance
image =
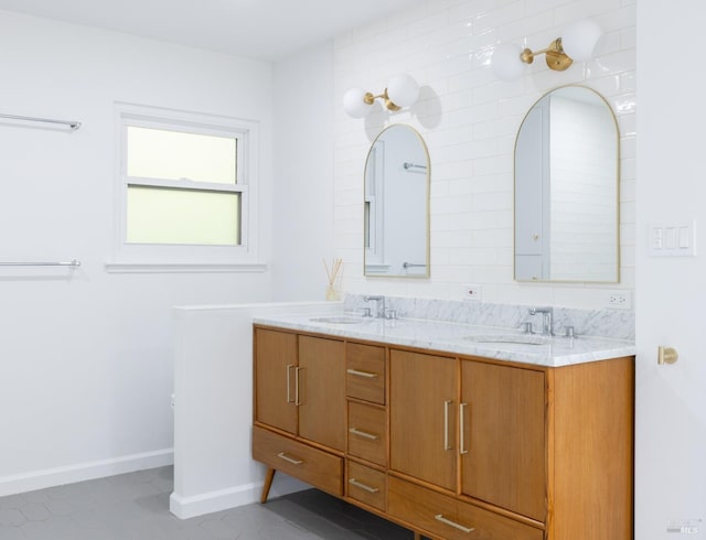
[[349, 402], [349, 454], [368, 462], [387, 463], [387, 411]]

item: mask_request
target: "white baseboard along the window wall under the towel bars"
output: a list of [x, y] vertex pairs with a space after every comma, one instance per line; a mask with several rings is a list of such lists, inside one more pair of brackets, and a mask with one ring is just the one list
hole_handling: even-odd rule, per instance
[[111, 460], [78, 463], [66, 467], [45, 468], [30, 473], [0, 476], [0, 497], [33, 492], [46, 487], [75, 484], [116, 474], [163, 467], [174, 463], [174, 449], [131, 454]]

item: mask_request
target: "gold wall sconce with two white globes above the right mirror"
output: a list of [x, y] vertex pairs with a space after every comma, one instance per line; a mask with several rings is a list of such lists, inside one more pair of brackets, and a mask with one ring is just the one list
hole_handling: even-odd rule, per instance
[[550, 69], [563, 72], [574, 61], [586, 62], [592, 58], [602, 33], [595, 21], [584, 19], [568, 25], [564, 30], [564, 36], [557, 37], [541, 51], [533, 52], [514, 43], [501, 43], [493, 51], [491, 66], [498, 78], [514, 80], [522, 75], [525, 64], [532, 64], [535, 56], [544, 54]]

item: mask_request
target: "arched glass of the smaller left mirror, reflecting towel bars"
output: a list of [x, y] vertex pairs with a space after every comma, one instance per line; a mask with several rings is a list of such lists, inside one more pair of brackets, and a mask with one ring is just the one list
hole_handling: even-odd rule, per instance
[[408, 126], [386, 128], [365, 162], [365, 276], [429, 277], [429, 153]]

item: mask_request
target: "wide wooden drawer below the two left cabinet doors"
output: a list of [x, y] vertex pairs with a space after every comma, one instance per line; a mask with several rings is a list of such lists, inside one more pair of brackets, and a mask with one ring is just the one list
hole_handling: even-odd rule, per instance
[[253, 458], [331, 495], [343, 495], [342, 457], [254, 426]]

